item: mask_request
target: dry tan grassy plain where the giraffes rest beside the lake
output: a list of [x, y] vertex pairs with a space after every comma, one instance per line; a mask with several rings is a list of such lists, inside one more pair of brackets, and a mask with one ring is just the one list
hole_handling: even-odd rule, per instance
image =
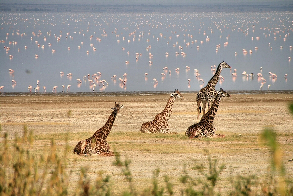
[[118, 152], [121, 160], [131, 160], [129, 168], [138, 192], [153, 186], [154, 171], [160, 169], [158, 181], [161, 186], [164, 186], [166, 175], [173, 184], [174, 195], [181, 195], [184, 184], [179, 179], [184, 175], [184, 168], [194, 178], [205, 178], [194, 166], [202, 165], [207, 173], [209, 157], [212, 161], [217, 160], [217, 167], [224, 164], [215, 186], [215, 191], [221, 194], [229, 193], [232, 189], [230, 181], [238, 175], [265, 179], [271, 152], [260, 135], [266, 128], [276, 131], [286, 176], [293, 178], [293, 162], [290, 161], [293, 159], [293, 115], [288, 108], [293, 102], [293, 94], [231, 94], [230, 98], [222, 98], [214, 127], [216, 133], [226, 137], [201, 139], [185, 136], [187, 128], [198, 122], [196, 94], [181, 94], [184, 99], [175, 100], [169, 120], [169, 131], [177, 134], [140, 133], [142, 123], [153, 120], [163, 111], [169, 94], [0, 96], [0, 142], [3, 143], [6, 132], [12, 144], [16, 135], [23, 135], [24, 125], [33, 131], [34, 143], [30, 149], [35, 156], [50, 151], [51, 138], [62, 156], [68, 142], [69, 194], [73, 194], [78, 186], [80, 168], [86, 167], [92, 182], [99, 172], [103, 176], [110, 175], [111, 191], [120, 195], [128, 189], [128, 182], [121, 168], [113, 165], [115, 156], [84, 157], [73, 153], [75, 145], [102, 127], [115, 102], [120, 102], [124, 108], [117, 115], [107, 141], [110, 150]]

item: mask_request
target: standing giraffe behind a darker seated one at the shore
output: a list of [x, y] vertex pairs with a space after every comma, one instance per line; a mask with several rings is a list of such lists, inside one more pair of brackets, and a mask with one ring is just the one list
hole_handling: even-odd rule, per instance
[[215, 90], [215, 86], [219, 81], [219, 76], [221, 74], [221, 71], [223, 68], [232, 68], [230, 65], [228, 65], [227, 63], [225, 63], [224, 61], [221, 62], [218, 65], [218, 68], [216, 70], [216, 73], [214, 74], [214, 76], [209, 80], [207, 86], [205, 86], [204, 88], [200, 89], [200, 91], [197, 94], [197, 105], [198, 105], [198, 119], [201, 113], [201, 102], [203, 102], [203, 114], [205, 114], [206, 111], [206, 105], [208, 102], [208, 109], [210, 108], [210, 104], [213, 102], [213, 99], [216, 97], [216, 90]]

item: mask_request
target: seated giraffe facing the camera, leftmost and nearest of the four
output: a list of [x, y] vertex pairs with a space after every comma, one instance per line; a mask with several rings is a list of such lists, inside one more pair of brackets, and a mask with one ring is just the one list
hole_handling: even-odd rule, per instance
[[77, 153], [78, 155], [87, 155], [87, 154], [98, 154], [102, 156], [113, 156], [114, 153], [110, 152], [110, 146], [107, 143], [106, 139], [108, 134], [111, 131], [111, 128], [113, 126], [113, 123], [115, 121], [117, 113], [119, 113], [120, 109], [123, 108], [124, 105], [120, 106], [120, 103], [115, 102], [115, 107], [113, 107], [113, 112], [109, 116], [109, 119], [107, 120], [106, 124], [101, 127], [99, 130], [97, 130], [93, 136], [91, 136], [88, 139], [81, 140], [78, 142], [78, 144], [75, 146], [73, 152]]

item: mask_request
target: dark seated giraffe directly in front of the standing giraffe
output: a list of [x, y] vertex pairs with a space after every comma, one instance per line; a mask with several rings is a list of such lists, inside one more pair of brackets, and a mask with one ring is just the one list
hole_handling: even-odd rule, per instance
[[225, 135], [215, 134], [216, 129], [213, 126], [213, 121], [218, 111], [221, 98], [230, 97], [230, 95], [223, 89], [220, 89], [220, 91], [216, 91], [216, 94], [217, 94], [216, 98], [211, 108], [208, 110], [206, 114], [202, 116], [202, 119], [200, 120], [200, 122], [188, 127], [187, 131], [185, 132], [185, 135], [187, 137], [189, 138], [225, 137]]

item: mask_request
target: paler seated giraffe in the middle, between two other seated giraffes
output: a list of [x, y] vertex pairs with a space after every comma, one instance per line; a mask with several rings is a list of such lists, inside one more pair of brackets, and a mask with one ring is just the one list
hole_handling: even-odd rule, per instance
[[175, 98], [181, 98], [181, 99], [184, 98], [180, 94], [178, 89], [175, 90], [174, 93], [170, 95], [170, 98], [167, 102], [165, 109], [161, 113], [157, 114], [153, 121], [143, 123], [141, 125], [140, 131], [142, 133], [157, 133], [157, 132], [170, 133], [168, 132], [169, 131], [168, 120], [170, 119], [170, 116], [172, 113], [172, 108], [173, 108], [173, 103], [175, 101]]

